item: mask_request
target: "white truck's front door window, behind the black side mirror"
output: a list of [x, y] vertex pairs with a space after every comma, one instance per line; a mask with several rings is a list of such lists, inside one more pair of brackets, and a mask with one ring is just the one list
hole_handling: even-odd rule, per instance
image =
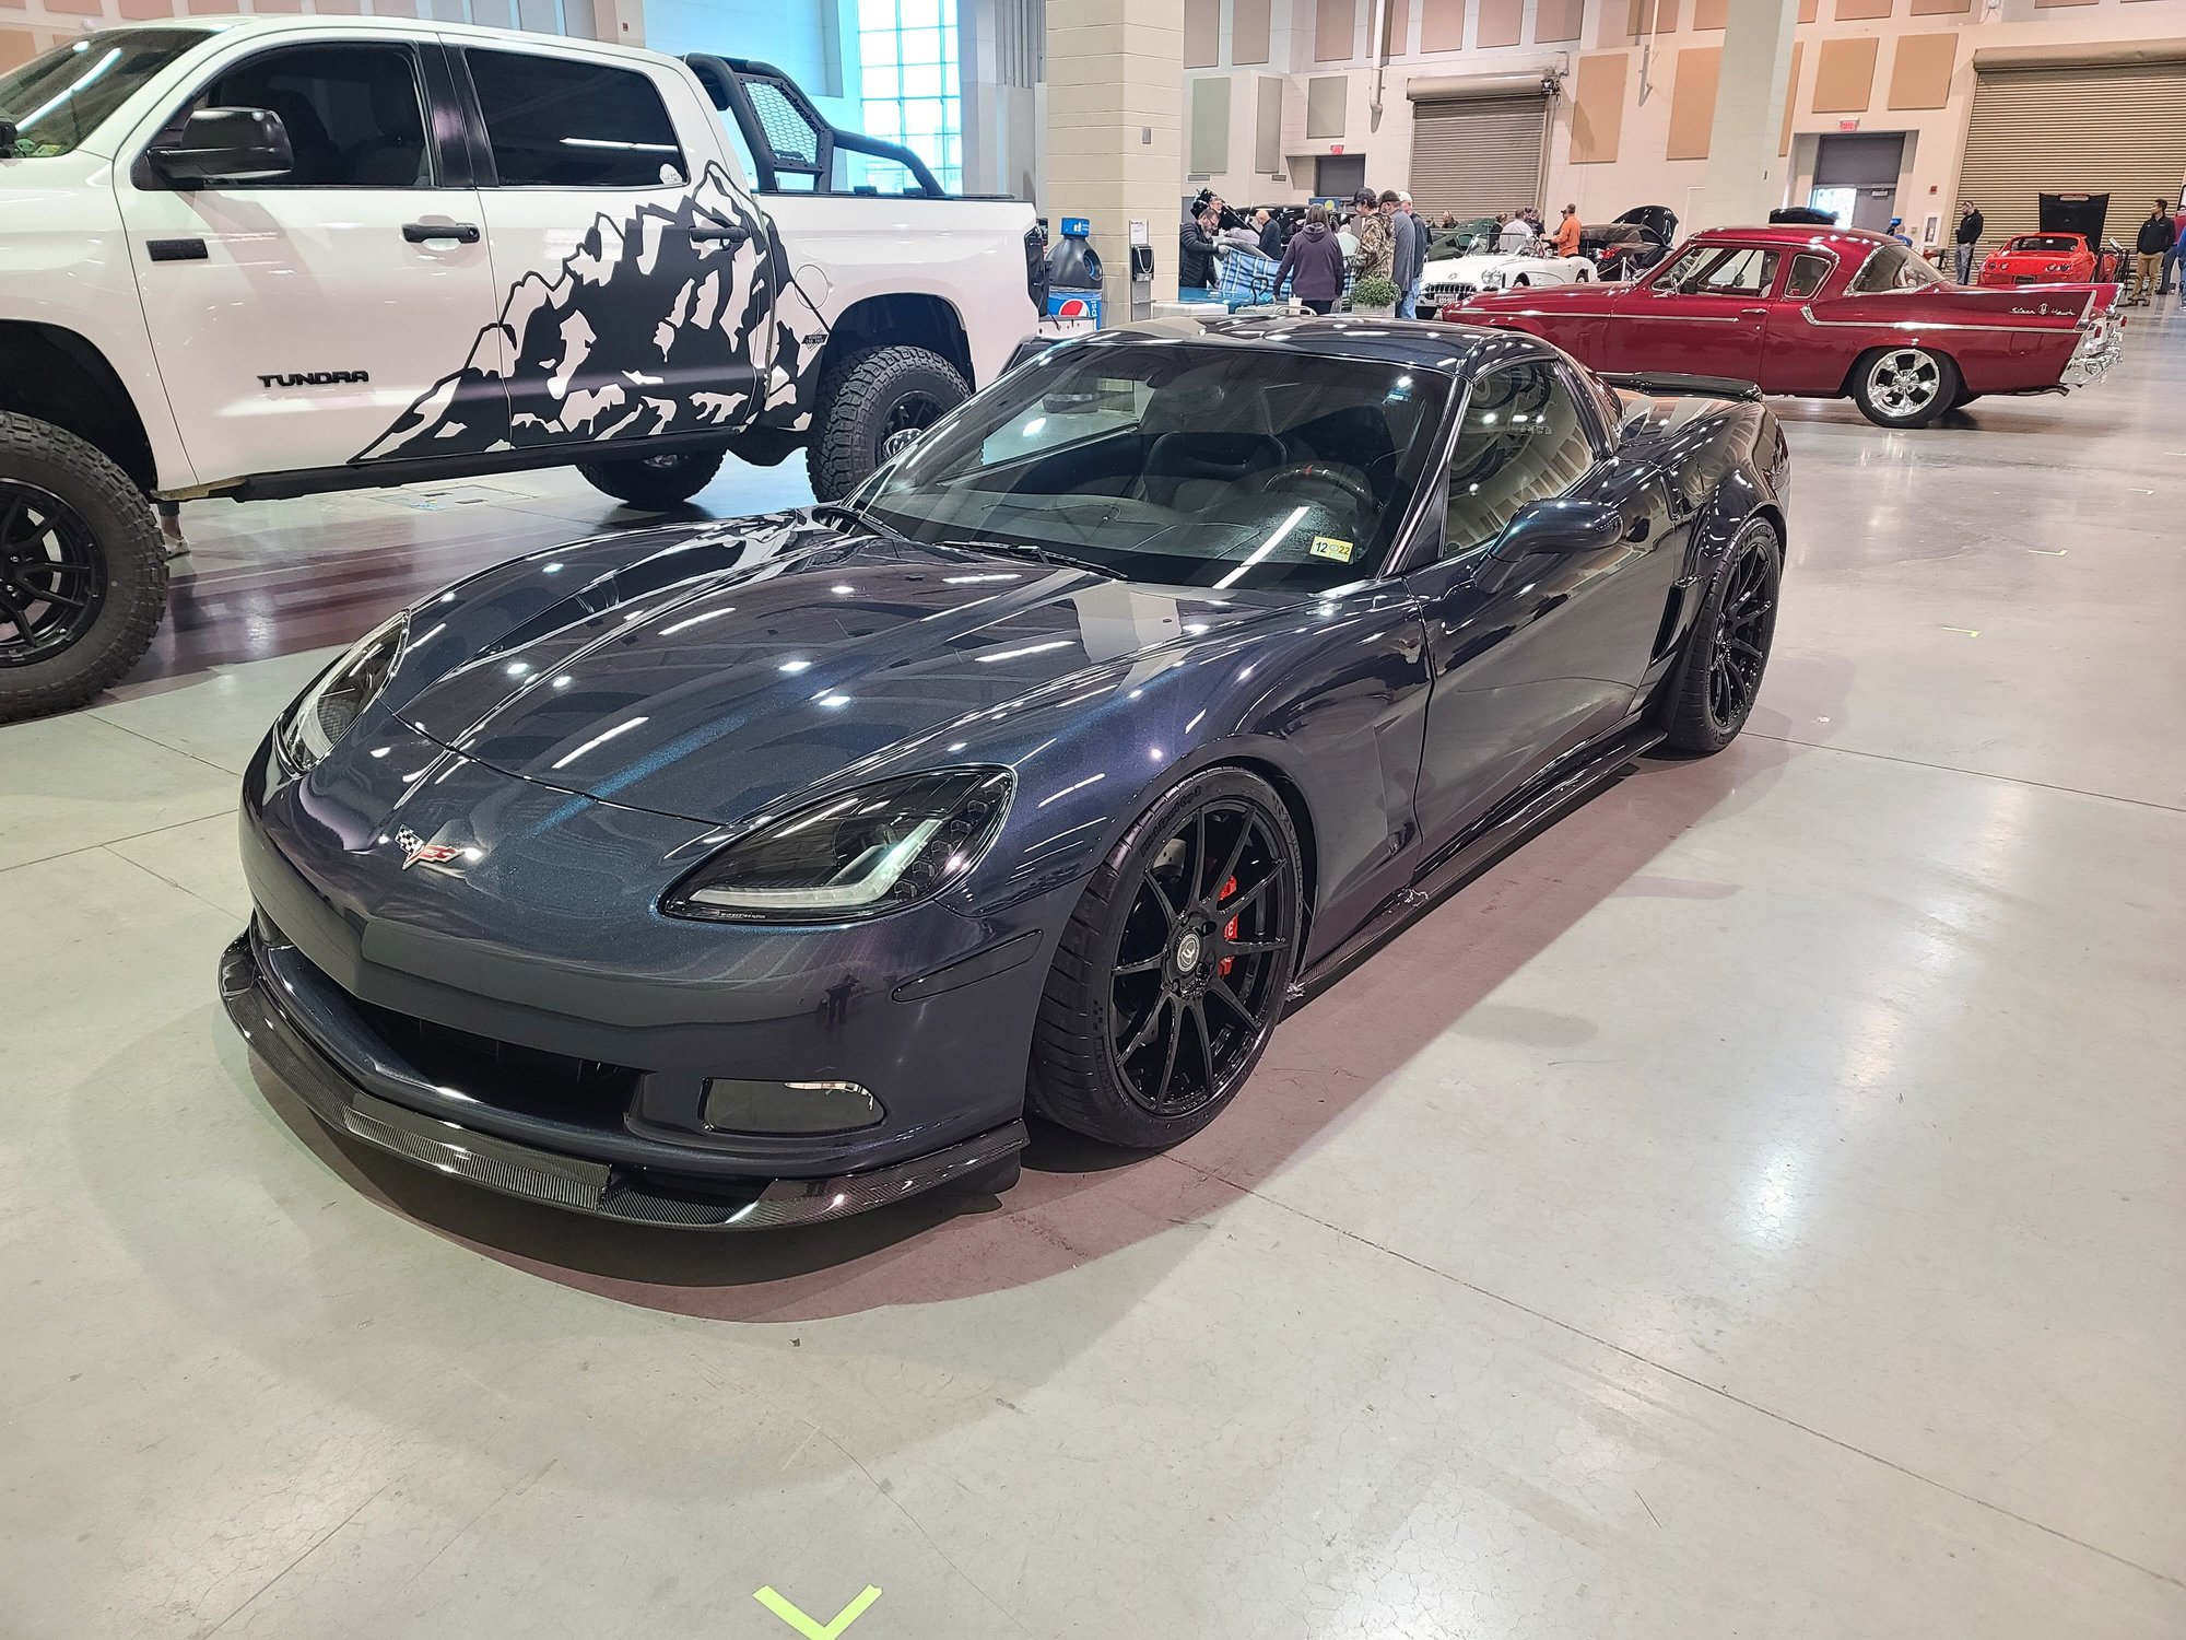
[[236, 63], [190, 98], [262, 107], [289, 129], [295, 166], [243, 188], [431, 188], [424, 96], [409, 46], [286, 46]]

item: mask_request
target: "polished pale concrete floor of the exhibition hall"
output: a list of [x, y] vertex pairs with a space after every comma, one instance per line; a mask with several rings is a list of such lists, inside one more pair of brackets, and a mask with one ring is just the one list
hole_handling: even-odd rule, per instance
[[772, 1240], [337, 1144], [214, 1001], [317, 645], [627, 516], [192, 507], [160, 656], [0, 730], [0, 1633], [2186, 1633], [2182, 380], [2164, 311], [2072, 400], [1782, 407], [1729, 752], [1183, 1150]]

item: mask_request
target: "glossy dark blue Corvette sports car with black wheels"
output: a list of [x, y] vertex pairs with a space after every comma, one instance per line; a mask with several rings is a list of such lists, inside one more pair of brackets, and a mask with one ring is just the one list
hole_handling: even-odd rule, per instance
[[627, 1220], [1001, 1190], [1027, 1104], [1172, 1144], [1434, 892], [1738, 733], [1784, 490], [1749, 389], [1524, 335], [1089, 337], [848, 505], [365, 636], [249, 768], [227, 1008], [328, 1124]]

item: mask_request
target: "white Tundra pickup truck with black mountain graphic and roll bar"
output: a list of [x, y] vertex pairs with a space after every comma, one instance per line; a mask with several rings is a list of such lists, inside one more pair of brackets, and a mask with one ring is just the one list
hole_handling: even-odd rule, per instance
[[179, 501], [575, 464], [667, 507], [800, 446], [833, 499], [1043, 300], [1032, 206], [944, 197], [765, 63], [83, 35], [0, 77], [0, 719], [144, 654]]

